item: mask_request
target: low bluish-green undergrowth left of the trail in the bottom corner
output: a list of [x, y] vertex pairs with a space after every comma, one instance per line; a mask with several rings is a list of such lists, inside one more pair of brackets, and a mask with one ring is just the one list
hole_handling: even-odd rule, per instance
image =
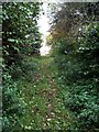
[[22, 129], [19, 118], [24, 113], [24, 101], [20, 98], [16, 82], [14, 82], [8, 72], [3, 73], [3, 113], [2, 131], [13, 132]]

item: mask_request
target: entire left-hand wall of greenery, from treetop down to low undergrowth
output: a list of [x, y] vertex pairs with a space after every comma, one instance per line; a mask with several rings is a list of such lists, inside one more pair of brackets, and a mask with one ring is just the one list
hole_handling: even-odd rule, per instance
[[2, 131], [4, 132], [22, 129], [20, 119], [24, 113], [25, 103], [20, 97], [21, 91], [16, 81], [22, 75], [25, 76], [25, 70], [29, 70], [28, 67], [30, 68], [30, 64], [24, 61], [25, 56], [40, 54], [41, 34], [37, 26], [40, 4], [40, 2], [2, 3], [4, 67]]

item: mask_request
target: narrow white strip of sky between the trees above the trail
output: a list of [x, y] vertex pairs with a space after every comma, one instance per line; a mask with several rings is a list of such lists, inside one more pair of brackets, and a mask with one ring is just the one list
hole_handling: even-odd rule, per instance
[[48, 18], [47, 18], [47, 2], [44, 2], [43, 6], [44, 13], [41, 13], [41, 16], [38, 19], [38, 26], [40, 32], [42, 33], [42, 47], [40, 48], [41, 55], [46, 55], [50, 53], [51, 46], [46, 45], [46, 36], [50, 34], [50, 24], [48, 24]]

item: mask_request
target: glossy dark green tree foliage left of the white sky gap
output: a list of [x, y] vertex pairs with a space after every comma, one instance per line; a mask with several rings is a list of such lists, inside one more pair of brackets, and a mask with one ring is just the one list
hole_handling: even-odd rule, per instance
[[41, 35], [37, 28], [40, 3], [3, 3], [3, 57], [8, 65], [21, 62], [22, 55], [38, 53]]

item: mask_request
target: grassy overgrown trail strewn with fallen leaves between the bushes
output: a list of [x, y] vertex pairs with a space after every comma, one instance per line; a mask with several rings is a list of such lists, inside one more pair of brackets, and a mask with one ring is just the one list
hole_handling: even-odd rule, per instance
[[50, 56], [31, 57], [28, 61], [29, 73], [24, 79], [19, 81], [26, 108], [21, 119], [23, 128], [30, 130], [66, 129], [70, 117], [61, 96], [57, 64]]

